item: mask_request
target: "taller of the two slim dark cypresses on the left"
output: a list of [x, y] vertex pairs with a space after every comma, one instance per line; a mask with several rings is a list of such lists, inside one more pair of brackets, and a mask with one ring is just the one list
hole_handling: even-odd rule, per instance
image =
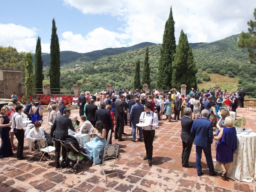
[[57, 28], [55, 20], [52, 20], [52, 38], [50, 46], [50, 86], [52, 94], [59, 94], [60, 92], [60, 45], [57, 35]]

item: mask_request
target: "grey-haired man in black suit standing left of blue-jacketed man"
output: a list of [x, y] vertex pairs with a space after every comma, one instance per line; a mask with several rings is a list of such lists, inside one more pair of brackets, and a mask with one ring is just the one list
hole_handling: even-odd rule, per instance
[[182, 140], [182, 167], [192, 168], [188, 164], [190, 152], [193, 145], [193, 137], [190, 135], [190, 131], [193, 125], [192, 110], [189, 107], [184, 109], [184, 116], [181, 118], [181, 140]]

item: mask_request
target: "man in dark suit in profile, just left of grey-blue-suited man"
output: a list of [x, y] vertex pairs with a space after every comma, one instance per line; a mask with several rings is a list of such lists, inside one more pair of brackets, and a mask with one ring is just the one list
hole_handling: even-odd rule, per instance
[[124, 139], [122, 139], [122, 131], [124, 129], [124, 115], [125, 115], [124, 106], [122, 104], [124, 102], [124, 96], [120, 95], [119, 99], [120, 101], [116, 101], [116, 104], [115, 104], [115, 110], [116, 110], [115, 139], [118, 139], [118, 141], [124, 141]]

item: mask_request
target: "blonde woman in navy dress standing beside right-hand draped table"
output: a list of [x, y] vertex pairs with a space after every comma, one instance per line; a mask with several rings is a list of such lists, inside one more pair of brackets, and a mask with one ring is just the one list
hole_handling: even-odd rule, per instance
[[225, 118], [224, 127], [214, 139], [218, 140], [216, 159], [222, 169], [221, 176], [226, 179], [227, 171], [230, 163], [233, 162], [234, 152], [237, 149], [236, 128], [232, 117]]

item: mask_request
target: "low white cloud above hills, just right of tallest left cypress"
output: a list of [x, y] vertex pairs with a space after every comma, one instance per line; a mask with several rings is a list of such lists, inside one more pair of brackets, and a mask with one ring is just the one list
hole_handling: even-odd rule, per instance
[[73, 34], [70, 31], [62, 33], [64, 40], [60, 41], [60, 50], [72, 50], [80, 53], [101, 50], [104, 48], [116, 48], [126, 46], [120, 42], [126, 34], [108, 31], [102, 27], [94, 29], [85, 37], [81, 34]]

